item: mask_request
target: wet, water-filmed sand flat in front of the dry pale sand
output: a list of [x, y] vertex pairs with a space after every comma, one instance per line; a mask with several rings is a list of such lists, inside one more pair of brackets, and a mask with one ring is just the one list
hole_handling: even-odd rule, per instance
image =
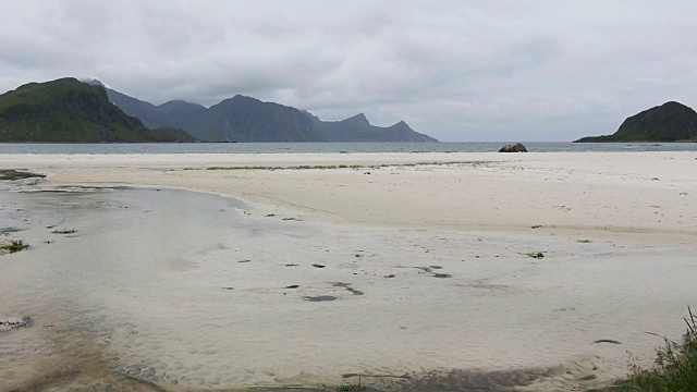
[[[0, 191], [0, 226], [32, 245], [0, 257], [0, 320], [34, 319], [0, 332], [2, 391], [270, 389], [342, 375], [496, 390], [602, 358], [572, 369], [580, 379], [652, 347], [644, 331], [680, 326], [665, 314], [697, 297], [687, 248], [284, 221], [295, 217], [184, 191], [30, 189]], [[656, 259], [674, 273], [632, 270]], [[511, 368], [535, 369], [476, 371]]]

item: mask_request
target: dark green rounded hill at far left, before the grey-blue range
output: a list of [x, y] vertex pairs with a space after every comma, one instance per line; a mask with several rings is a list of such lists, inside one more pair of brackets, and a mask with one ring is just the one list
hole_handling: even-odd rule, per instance
[[29, 83], [0, 95], [0, 142], [194, 142], [181, 130], [148, 130], [109, 102], [100, 86], [75, 78]]

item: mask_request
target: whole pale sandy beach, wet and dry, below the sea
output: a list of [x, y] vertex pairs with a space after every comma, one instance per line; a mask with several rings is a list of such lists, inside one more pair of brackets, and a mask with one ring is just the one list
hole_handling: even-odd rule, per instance
[[2, 193], [3, 390], [601, 387], [697, 298], [693, 155], [0, 157], [48, 175]]

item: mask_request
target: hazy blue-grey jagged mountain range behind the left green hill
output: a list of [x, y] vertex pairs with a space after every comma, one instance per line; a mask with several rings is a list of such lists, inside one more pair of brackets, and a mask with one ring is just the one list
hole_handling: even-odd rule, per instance
[[173, 126], [205, 142], [438, 142], [405, 122], [380, 127], [363, 114], [343, 121], [321, 121], [309, 112], [236, 95], [206, 108], [172, 100], [156, 106], [86, 81], [107, 91], [109, 100], [148, 127]]

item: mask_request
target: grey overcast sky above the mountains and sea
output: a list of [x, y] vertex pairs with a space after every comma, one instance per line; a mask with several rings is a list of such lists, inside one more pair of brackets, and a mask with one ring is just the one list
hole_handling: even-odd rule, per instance
[[0, 91], [243, 94], [441, 140], [572, 140], [697, 107], [697, 1], [0, 0]]

